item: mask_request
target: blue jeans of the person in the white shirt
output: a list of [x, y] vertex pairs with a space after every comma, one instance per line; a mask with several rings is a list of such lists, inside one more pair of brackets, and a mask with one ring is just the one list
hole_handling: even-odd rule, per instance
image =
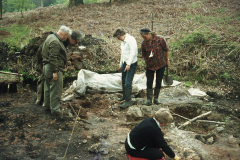
[[132, 89], [132, 81], [137, 69], [137, 62], [131, 64], [128, 72], [124, 72], [126, 65], [126, 63], [122, 63], [122, 86], [126, 89]]

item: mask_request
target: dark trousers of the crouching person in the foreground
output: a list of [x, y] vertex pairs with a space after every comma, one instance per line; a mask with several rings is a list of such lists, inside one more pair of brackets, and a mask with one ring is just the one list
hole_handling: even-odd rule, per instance
[[144, 150], [131, 149], [127, 140], [125, 141], [125, 149], [132, 157], [146, 158], [150, 160], [157, 160], [163, 157], [163, 153], [156, 148], [145, 147]]

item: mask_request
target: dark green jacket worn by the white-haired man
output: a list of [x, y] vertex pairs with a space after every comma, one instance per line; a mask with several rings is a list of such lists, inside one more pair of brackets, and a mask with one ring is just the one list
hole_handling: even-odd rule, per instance
[[43, 64], [49, 63], [53, 73], [63, 71], [67, 62], [66, 48], [58, 34], [50, 34], [42, 47]]

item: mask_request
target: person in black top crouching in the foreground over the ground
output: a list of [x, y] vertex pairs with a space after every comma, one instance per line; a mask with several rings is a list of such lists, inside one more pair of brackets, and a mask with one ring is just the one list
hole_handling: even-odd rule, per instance
[[164, 160], [164, 154], [166, 154], [174, 160], [180, 160], [165, 142], [161, 131], [161, 127], [166, 126], [172, 120], [173, 117], [169, 110], [161, 108], [155, 113], [154, 117], [146, 118], [140, 122], [128, 134], [125, 141], [128, 156]]

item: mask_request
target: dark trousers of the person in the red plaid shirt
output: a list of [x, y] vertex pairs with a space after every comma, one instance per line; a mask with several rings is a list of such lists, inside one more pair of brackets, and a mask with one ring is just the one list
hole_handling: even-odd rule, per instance
[[[164, 71], [165, 71], [165, 66], [160, 68], [159, 70], [156, 70], [156, 86], [155, 86], [156, 89], [161, 89], [161, 87], [162, 87], [162, 79], [163, 79]], [[152, 89], [154, 72], [155, 71], [152, 71], [149, 69], [146, 70], [147, 89]]]

